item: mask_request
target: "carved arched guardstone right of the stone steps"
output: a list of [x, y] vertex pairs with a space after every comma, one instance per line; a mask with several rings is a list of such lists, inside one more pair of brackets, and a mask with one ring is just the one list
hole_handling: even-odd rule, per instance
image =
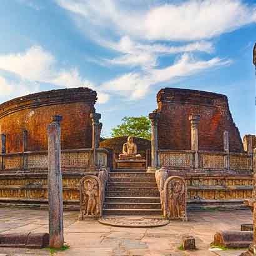
[[187, 186], [185, 179], [171, 176], [164, 184], [164, 217], [187, 220]]

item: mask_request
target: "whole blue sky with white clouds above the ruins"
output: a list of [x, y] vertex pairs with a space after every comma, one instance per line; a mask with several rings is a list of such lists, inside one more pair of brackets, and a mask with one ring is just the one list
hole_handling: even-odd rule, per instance
[[255, 134], [255, 0], [1, 0], [0, 31], [0, 102], [91, 87], [107, 136], [160, 88], [199, 89]]

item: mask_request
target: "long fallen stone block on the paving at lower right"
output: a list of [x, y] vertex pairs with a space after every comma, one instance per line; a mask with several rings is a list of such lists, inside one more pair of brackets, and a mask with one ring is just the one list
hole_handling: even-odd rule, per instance
[[214, 235], [214, 245], [227, 248], [249, 248], [254, 239], [250, 231], [221, 231]]

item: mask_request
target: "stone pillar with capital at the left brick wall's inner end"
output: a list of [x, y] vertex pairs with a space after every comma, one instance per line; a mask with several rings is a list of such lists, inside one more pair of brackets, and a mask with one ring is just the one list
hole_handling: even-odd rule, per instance
[[97, 165], [97, 152], [96, 149], [99, 147], [99, 140], [101, 135], [101, 114], [91, 113], [90, 117], [92, 119], [92, 165]]

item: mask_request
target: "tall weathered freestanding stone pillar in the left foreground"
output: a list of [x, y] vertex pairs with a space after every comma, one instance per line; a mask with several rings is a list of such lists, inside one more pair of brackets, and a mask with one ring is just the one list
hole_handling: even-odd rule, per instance
[[62, 116], [53, 116], [48, 133], [48, 200], [49, 246], [61, 248], [64, 244], [63, 200], [61, 174], [61, 122]]

